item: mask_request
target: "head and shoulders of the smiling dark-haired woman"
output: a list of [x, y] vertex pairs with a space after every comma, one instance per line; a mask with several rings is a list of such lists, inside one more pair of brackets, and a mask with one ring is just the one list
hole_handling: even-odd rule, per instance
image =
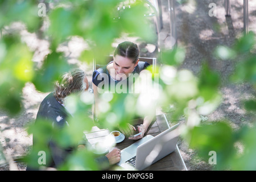
[[122, 42], [115, 49], [113, 61], [93, 72], [93, 89], [113, 88], [113, 84], [117, 85], [121, 81], [128, 83], [129, 76], [135, 73], [139, 74], [149, 65], [146, 62], [139, 61], [137, 44], [127, 41]]

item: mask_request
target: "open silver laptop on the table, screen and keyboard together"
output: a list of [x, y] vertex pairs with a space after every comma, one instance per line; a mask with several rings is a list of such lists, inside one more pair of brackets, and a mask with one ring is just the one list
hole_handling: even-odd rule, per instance
[[153, 137], [146, 135], [129, 147], [121, 150], [121, 160], [117, 163], [127, 170], [143, 170], [158, 162], [176, 149], [179, 123]]

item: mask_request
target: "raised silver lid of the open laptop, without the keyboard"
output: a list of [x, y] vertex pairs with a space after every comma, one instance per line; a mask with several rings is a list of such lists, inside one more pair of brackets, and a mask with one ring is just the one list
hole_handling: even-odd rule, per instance
[[176, 149], [179, 123], [163, 133], [141, 144], [137, 148], [135, 168], [142, 170], [158, 160], [171, 154]]

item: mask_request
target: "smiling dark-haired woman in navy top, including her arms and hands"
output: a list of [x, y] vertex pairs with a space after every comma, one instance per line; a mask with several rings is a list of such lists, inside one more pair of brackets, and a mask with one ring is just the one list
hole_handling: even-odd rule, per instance
[[[147, 62], [139, 61], [139, 48], [137, 44], [127, 41], [118, 44], [118, 47], [114, 51], [113, 61], [105, 67], [99, 68], [93, 72], [93, 93], [96, 103], [94, 112], [96, 112], [96, 115], [98, 93], [101, 93], [101, 90], [110, 90], [110, 92], [117, 93], [120, 93], [119, 91], [121, 90], [122, 92], [127, 93], [126, 91], [129, 90], [129, 86], [133, 84], [134, 75], [139, 75], [139, 73], [149, 65], [150, 64]], [[121, 85], [122, 88], [120, 89], [118, 86]], [[123, 87], [126, 87], [127, 89], [123, 89]], [[114, 88], [114, 90], [112, 88]], [[130, 139], [142, 138], [150, 123], [151, 119], [147, 117], [144, 118], [143, 125], [138, 127], [138, 130], [139, 132], [142, 132], [142, 135]], [[136, 129], [132, 125], [129, 125], [127, 129], [122, 130], [122, 132], [126, 135], [131, 135], [134, 130]]]

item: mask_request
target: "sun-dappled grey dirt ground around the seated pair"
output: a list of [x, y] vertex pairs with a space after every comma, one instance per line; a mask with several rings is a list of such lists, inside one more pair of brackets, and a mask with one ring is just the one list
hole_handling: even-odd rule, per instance
[[[168, 22], [168, 1], [162, 0], [163, 29], [160, 31], [160, 46], [170, 47], [170, 26]], [[179, 1], [181, 2], [181, 1]], [[209, 16], [209, 4], [216, 3], [217, 16]], [[243, 125], [249, 125], [252, 121], [252, 114], [248, 114], [242, 109], [242, 100], [255, 97], [255, 90], [247, 84], [230, 84], [229, 75], [234, 70], [235, 63], [232, 61], [217, 60], [213, 56], [213, 50], [218, 45], [232, 46], [234, 41], [242, 35], [243, 31], [243, 1], [233, 0], [231, 13], [232, 16], [225, 16], [224, 1], [222, 0], [188, 0], [181, 5], [176, 2], [176, 24], [177, 24], [177, 44], [186, 48], [186, 56], [181, 68], [192, 71], [195, 75], [199, 74], [203, 61], [208, 61], [210, 67], [217, 71], [222, 78], [220, 92], [222, 93], [222, 103], [213, 111], [205, 116], [205, 122], [216, 121], [226, 118], [234, 129]], [[256, 31], [256, 2], [249, 1], [249, 31]], [[20, 27], [18, 27], [20, 28]], [[23, 40], [34, 51], [33, 61], [40, 63], [44, 55], [47, 55], [48, 43], [46, 40], [37, 39], [34, 34], [29, 34], [20, 28]], [[137, 39], [130, 38], [137, 42]], [[118, 40], [117, 40], [118, 42]], [[157, 44], [147, 44], [138, 42], [141, 49], [141, 56], [155, 57]], [[60, 46], [70, 63], [77, 63], [77, 57], [82, 51], [82, 40], [73, 38], [67, 44]], [[80, 65], [88, 74], [89, 80], [92, 75], [92, 65]], [[23, 110], [18, 116], [10, 118], [0, 111], [1, 144], [3, 150], [9, 156], [19, 156], [28, 152], [32, 137], [27, 135], [26, 125], [34, 122], [40, 102], [48, 93], [39, 93], [34, 85], [27, 83], [23, 89]], [[168, 113], [167, 113], [168, 116]], [[255, 115], [254, 115], [255, 116]], [[196, 152], [189, 149], [188, 144], [179, 140], [178, 144], [181, 155], [188, 170], [212, 170], [213, 166], [202, 162], [196, 158]], [[18, 166], [18, 170], [24, 170], [26, 166]], [[16, 168], [12, 168], [16, 169]], [[9, 170], [9, 166], [0, 168]]]

